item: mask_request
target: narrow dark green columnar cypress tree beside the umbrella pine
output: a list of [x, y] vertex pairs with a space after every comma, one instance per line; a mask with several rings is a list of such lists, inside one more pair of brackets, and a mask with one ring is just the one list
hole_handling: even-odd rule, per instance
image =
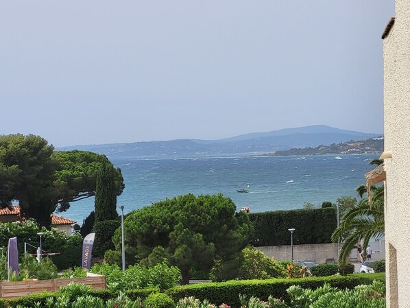
[[97, 174], [95, 189], [95, 222], [116, 220], [117, 193], [114, 179], [114, 166], [104, 163]]

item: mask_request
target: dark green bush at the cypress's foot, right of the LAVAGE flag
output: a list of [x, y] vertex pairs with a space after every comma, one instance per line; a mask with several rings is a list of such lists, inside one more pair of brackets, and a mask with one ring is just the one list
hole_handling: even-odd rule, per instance
[[93, 232], [95, 232], [95, 241], [93, 256], [103, 257], [107, 250], [115, 248], [111, 239], [119, 226], [121, 226], [119, 220], [104, 220], [94, 223]]

